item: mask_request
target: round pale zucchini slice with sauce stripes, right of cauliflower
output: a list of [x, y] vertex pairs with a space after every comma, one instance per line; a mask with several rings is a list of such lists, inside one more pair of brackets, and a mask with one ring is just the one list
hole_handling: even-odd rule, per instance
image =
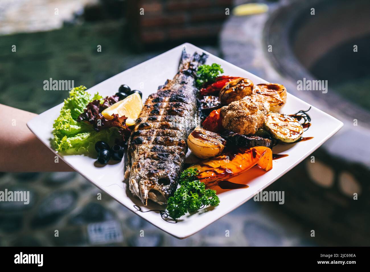
[[274, 112], [266, 115], [265, 128], [272, 137], [283, 142], [295, 142], [303, 134], [303, 127], [296, 118]]

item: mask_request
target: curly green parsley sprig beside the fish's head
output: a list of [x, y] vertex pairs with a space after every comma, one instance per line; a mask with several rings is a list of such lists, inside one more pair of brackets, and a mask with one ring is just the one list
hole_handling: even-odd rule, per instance
[[206, 189], [203, 182], [196, 178], [196, 168], [185, 169], [180, 175], [180, 187], [168, 198], [167, 210], [176, 219], [186, 212], [195, 212], [203, 206], [217, 206], [220, 199], [216, 191]]

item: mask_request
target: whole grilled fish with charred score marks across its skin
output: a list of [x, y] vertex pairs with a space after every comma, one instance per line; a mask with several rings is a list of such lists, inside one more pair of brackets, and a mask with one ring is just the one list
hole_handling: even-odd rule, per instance
[[144, 205], [148, 199], [166, 204], [177, 188], [188, 150], [186, 139], [198, 113], [195, 71], [207, 57], [204, 53], [190, 56], [184, 48], [178, 73], [149, 95], [135, 122], [128, 140], [125, 178]]

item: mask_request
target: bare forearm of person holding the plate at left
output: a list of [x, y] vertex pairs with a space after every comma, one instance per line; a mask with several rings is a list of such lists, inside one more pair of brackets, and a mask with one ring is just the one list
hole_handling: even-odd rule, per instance
[[27, 128], [37, 116], [0, 104], [0, 172], [74, 171]]

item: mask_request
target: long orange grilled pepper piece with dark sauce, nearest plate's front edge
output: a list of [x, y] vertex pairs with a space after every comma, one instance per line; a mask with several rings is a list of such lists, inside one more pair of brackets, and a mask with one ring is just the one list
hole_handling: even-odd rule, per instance
[[209, 186], [214, 182], [239, 175], [256, 164], [265, 171], [272, 169], [272, 151], [270, 148], [240, 148], [236, 154], [226, 152], [216, 158], [194, 164], [189, 168], [196, 168], [198, 172], [196, 178]]

